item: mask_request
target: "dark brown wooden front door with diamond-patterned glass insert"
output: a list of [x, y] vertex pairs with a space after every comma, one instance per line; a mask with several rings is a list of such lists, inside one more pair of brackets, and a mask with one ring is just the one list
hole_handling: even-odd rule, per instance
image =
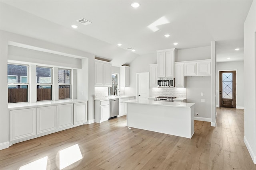
[[220, 71], [220, 107], [236, 108], [236, 71]]

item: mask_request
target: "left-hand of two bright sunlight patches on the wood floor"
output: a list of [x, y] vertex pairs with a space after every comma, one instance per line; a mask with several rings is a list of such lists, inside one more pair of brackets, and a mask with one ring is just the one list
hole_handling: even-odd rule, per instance
[[46, 170], [48, 156], [23, 165], [19, 170]]

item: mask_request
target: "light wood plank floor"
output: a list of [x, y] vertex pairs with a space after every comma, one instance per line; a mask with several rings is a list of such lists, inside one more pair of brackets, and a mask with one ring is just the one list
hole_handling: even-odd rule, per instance
[[217, 114], [216, 127], [195, 121], [192, 139], [129, 129], [125, 116], [82, 125], [1, 150], [0, 169], [48, 156], [47, 169], [58, 170], [59, 151], [78, 144], [83, 158], [65, 170], [256, 170], [243, 142], [244, 110], [217, 108]]

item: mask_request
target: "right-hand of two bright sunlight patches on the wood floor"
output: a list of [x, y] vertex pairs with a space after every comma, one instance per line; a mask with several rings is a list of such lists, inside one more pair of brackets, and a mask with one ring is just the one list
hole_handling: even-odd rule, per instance
[[82, 159], [78, 144], [60, 150], [60, 170]]

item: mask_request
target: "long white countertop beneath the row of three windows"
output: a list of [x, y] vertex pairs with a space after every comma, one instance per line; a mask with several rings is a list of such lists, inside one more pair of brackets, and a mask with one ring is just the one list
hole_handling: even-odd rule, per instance
[[87, 100], [81, 99], [67, 99], [67, 100], [57, 100], [57, 101], [42, 101], [36, 103], [12, 103], [8, 104], [8, 109], [25, 109], [31, 107], [43, 107], [43, 106], [52, 106], [52, 105], [61, 105], [61, 104], [73, 104], [73, 103], [82, 103], [87, 102]]

